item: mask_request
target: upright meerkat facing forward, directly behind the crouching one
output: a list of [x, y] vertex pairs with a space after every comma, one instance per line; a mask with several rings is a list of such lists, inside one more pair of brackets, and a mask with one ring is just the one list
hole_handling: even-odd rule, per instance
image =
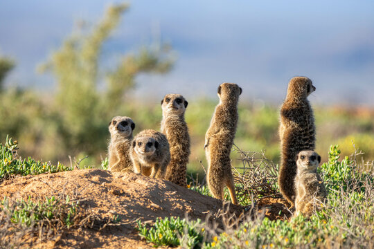
[[180, 94], [167, 94], [161, 100], [161, 132], [170, 145], [170, 163], [165, 179], [181, 187], [187, 187], [186, 169], [190, 156], [190, 135], [184, 120], [187, 105]]

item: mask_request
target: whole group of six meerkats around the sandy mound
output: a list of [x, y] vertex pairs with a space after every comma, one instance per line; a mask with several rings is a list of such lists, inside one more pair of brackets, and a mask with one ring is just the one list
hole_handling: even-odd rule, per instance
[[[308, 95], [316, 88], [308, 77], [290, 80], [281, 107], [279, 137], [281, 165], [278, 184], [283, 197], [296, 213], [310, 215], [323, 203], [326, 190], [317, 174], [321, 157], [314, 152], [316, 131]], [[208, 162], [206, 181], [211, 194], [224, 199], [229, 189], [233, 204], [238, 204], [231, 171], [230, 153], [238, 124], [238, 100], [242, 89], [233, 83], [218, 87], [219, 104], [206, 131], [204, 150]], [[109, 169], [163, 178], [187, 186], [186, 168], [190, 156], [190, 136], [185, 121], [187, 100], [180, 94], [167, 94], [161, 100], [161, 132], [147, 129], [133, 138], [135, 123], [117, 116], [109, 123]]]

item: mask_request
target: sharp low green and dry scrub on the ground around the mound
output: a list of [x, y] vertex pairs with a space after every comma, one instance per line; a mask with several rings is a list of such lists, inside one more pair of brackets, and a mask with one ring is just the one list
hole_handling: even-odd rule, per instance
[[[17, 156], [17, 142], [7, 138], [0, 144], [0, 179], [12, 175], [42, 174], [71, 170]], [[251, 205], [278, 192], [277, 167], [263, 153], [235, 149], [241, 168], [234, 169], [240, 205]], [[139, 234], [154, 246], [181, 248], [373, 248], [374, 247], [374, 162], [362, 161], [362, 151], [341, 159], [339, 146], [331, 146], [328, 160], [319, 167], [328, 203], [309, 218], [270, 221], [263, 214], [247, 216], [233, 226], [218, 228], [202, 221], [171, 217], [153, 225], [138, 222]], [[45, 166], [45, 167], [44, 167]], [[107, 167], [107, 158], [101, 167]], [[209, 195], [208, 188], [191, 178], [189, 188]], [[226, 199], [229, 195], [226, 194]], [[0, 203], [0, 248], [25, 246], [25, 237], [46, 239], [76, 228], [103, 227], [118, 223], [118, 216], [102, 221], [80, 207], [78, 199], [64, 194], [44, 199], [3, 199]], [[224, 221], [223, 221], [224, 222]]]

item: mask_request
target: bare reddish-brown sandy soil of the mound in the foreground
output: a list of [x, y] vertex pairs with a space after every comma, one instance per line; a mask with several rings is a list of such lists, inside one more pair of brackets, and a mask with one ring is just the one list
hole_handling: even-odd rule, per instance
[[[136, 232], [136, 221], [153, 223], [158, 217], [188, 217], [222, 226], [225, 215], [243, 216], [248, 208], [224, 203], [169, 181], [130, 172], [79, 169], [71, 172], [17, 176], [0, 184], [0, 199], [40, 199], [69, 195], [102, 220], [121, 221], [105, 228], [70, 229], [48, 241], [34, 241], [33, 248], [152, 248]], [[260, 199], [256, 212], [269, 219], [287, 219], [290, 212], [280, 196]], [[252, 209], [253, 210], [253, 209]], [[224, 212], [226, 211], [226, 212]], [[253, 213], [252, 213], [253, 214]]]

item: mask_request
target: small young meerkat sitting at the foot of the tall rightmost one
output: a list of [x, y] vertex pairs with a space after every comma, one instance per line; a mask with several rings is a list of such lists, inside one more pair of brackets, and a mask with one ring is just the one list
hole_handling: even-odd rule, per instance
[[321, 156], [314, 151], [301, 151], [296, 156], [297, 173], [295, 178], [296, 215], [310, 216], [319, 210], [327, 199], [327, 192], [317, 167]]

